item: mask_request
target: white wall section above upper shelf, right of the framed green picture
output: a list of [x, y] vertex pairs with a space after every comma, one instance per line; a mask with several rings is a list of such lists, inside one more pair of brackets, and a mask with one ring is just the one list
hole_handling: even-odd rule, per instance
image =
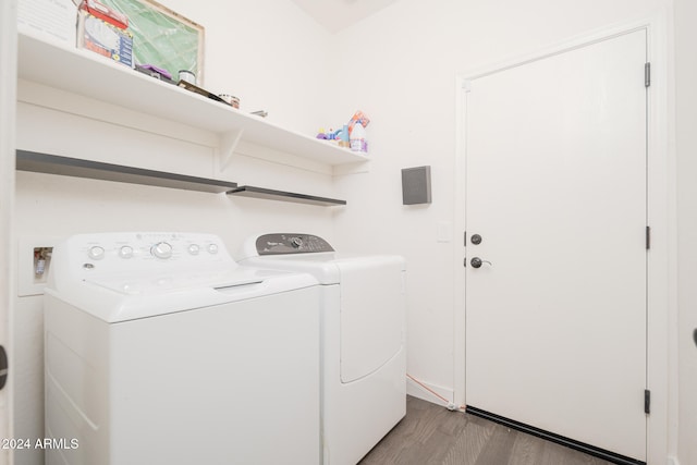
[[206, 28], [205, 85], [308, 134], [328, 112], [331, 36], [290, 0], [164, 0]]

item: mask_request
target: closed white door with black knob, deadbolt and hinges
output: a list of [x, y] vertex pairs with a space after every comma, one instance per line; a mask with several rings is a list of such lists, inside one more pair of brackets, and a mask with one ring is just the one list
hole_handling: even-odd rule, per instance
[[467, 405], [641, 461], [646, 40], [473, 79], [465, 142]]

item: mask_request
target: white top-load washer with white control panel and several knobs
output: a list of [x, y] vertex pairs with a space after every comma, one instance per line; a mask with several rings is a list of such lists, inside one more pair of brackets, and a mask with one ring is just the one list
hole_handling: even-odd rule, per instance
[[319, 297], [215, 235], [70, 237], [46, 289], [46, 463], [318, 464]]

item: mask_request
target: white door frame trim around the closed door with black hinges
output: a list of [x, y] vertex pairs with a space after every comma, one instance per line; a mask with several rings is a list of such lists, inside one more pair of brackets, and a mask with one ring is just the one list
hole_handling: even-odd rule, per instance
[[[465, 268], [465, 121], [468, 83], [496, 72], [521, 66], [553, 54], [606, 40], [636, 29], [646, 29], [648, 57], [651, 63], [651, 86], [648, 93], [648, 221], [651, 227], [651, 248], [648, 254], [648, 331], [647, 387], [651, 391], [651, 414], [647, 431], [647, 463], [664, 464], [676, 437], [674, 419], [675, 387], [670, 379], [674, 368], [669, 355], [675, 353], [670, 342], [670, 323], [676, 319], [675, 291], [675, 152], [669, 145], [669, 91], [671, 54], [669, 53], [669, 11], [647, 21], [639, 21], [592, 32], [535, 53], [498, 64], [473, 70], [456, 76], [456, 154], [455, 154], [455, 231], [458, 237], [453, 266], [456, 282], [464, 283]], [[455, 286], [455, 354], [454, 404], [465, 405], [465, 293]], [[674, 341], [674, 339], [673, 339]], [[670, 414], [670, 415], [669, 415]]]

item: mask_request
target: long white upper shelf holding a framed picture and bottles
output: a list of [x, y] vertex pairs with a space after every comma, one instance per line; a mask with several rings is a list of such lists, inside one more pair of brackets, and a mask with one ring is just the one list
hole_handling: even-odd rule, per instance
[[327, 166], [368, 160], [362, 154], [281, 127], [90, 51], [48, 42], [22, 32], [19, 34], [19, 77], [211, 131], [228, 139], [232, 134], [235, 143], [252, 143]]

